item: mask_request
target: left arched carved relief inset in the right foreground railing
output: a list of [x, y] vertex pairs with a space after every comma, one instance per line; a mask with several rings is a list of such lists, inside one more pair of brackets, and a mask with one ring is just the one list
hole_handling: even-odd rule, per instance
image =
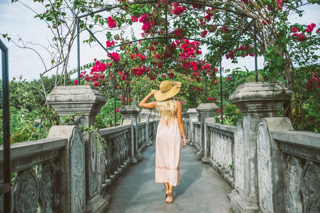
[[288, 156], [285, 169], [285, 183], [287, 189], [286, 209], [288, 213], [302, 212], [301, 179], [302, 167], [300, 160], [292, 155]]

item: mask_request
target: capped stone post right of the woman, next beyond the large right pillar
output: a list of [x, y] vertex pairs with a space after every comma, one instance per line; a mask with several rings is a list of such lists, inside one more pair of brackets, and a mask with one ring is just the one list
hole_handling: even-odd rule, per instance
[[[201, 122], [201, 149], [197, 153], [197, 159], [202, 161], [202, 163], [209, 163], [210, 149], [209, 155], [204, 156], [204, 128], [205, 128], [205, 118], [214, 118], [216, 112], [218, 111], [218, 107], [215, 103], [200, 103], [199, 107], [196, 110], [200, 115]], [[202, 159], [203, 158], [203, 159]]]

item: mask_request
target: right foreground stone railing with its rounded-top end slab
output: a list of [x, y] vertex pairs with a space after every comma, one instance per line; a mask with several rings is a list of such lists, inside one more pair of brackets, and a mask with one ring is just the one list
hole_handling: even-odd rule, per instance
[[288, 118], [259, 123], [261, 212], [319, 212], [320, 134], [294, 131]]

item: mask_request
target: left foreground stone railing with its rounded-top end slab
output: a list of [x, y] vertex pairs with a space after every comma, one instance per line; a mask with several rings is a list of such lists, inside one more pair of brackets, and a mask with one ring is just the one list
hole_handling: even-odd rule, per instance
[[77, 126], [53, 126], [46, 139], [11, 144], [10, 152], [13, 212], [85, 212], [84, 141]]

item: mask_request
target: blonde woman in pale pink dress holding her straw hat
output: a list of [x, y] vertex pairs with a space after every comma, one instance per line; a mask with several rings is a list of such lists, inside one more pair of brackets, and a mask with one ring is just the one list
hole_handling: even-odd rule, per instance
[[[142, 108], [156, 108], [160, 121], [155, 137], [155, 182], [164, 183], [166, 202], [173, 202], [173, 187], [179, 184], [180, 176], [180, 142], [186, 146], [186, 134], [182, 122], [180, 101], [174, 99], [179, 93], [180, 82], [163, 81], [159, 91], [152, 90], [140, 103]], [[147, 103], [154, 95], [156, 101]]]

